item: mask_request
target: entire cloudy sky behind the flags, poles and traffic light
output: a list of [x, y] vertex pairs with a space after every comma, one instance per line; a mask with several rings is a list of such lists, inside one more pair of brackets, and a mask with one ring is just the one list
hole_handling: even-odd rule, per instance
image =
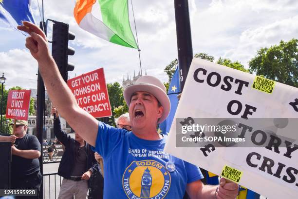
[[[143, 73], [147, 69], [148, 75], [163, 81], [168, 80], [164, 68], [177, 58], [173, 2], [132, 0]], [[188, 0], [188, 3], [193, 53], [204, 52], [216, 60], [219, 57], [239, 60], [248, 67], [248, 61], [261, 47], [298, 38], [297, 0]], [[126, 78], [129, 73], [132, 77], [134, 71], [138, 72], [137, 50], [101, 40], [78, 27], [73, 17], [74, 0], [44, 1], [44, 8], [45, 19], [69, 23], [70, 31], [76, 35], [70, 43], [75, 48], [75, 55], [69, 57], [75, 63], [75, 70], [69, 73], [71, 78], [104, 67], [107, 82], [122, 84], [123, 75]], [[36, 21], [40, 21], [37, 0], [32, 0], [32, 9]], [[135, 32], [133, 23], [131, 28]], [[37, 62], [25, 49], [25, 37], [0, 24], [0, 38], [0, 73], [5, 73], [6, 86], [36, 88]]]

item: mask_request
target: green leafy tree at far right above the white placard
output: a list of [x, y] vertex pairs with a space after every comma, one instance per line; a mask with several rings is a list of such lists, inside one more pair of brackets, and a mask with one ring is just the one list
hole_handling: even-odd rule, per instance
[[298, 87], [298, 40], [281, 40], [279, 45], [261, 48], [249, 61], [249, 71]]

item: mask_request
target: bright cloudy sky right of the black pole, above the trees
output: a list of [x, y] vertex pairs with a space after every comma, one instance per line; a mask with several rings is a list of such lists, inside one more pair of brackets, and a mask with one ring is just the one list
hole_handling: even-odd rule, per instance
[[291, 0], [212, 0], [198, 7], [192, 27], [193, 51], [247, 67], [260, 47], [297, 38], [298, 3]]

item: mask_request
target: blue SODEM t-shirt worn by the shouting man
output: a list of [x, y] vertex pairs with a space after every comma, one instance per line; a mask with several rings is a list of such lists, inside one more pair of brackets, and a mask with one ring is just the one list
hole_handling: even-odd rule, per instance
[[182, 199], [199, 167], [165, 153], [167, 136], [145, 140], [99, 122], [95, 151], [104, 159], [105, 199]]

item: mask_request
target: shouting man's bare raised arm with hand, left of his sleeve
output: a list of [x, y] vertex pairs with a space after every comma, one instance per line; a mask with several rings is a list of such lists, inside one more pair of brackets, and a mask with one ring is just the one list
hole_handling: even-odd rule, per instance
[[62, 79], [55, 60], [49, 52], [45, 34], [37, 25], [28, 21], [24, 21], [18, 29], [30, 34], [26, 38], [26, 47], [38, 62], [38, 69], [51, 101], [70, 126], [76, 132], [81, 132], [80, 136], [95, 146], [98, 121], [77, 105], [75, 97]]

